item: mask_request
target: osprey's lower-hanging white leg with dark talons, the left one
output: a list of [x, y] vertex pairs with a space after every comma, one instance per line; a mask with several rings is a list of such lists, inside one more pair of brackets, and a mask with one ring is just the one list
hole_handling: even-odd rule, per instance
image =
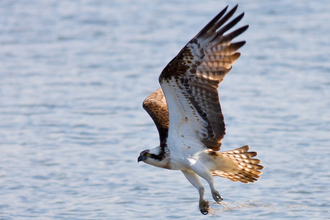
[[182, 171], [188, 181], [198, 190], [199, 193], [199, 210], [203, 215], [209, 213], [209, 202], [204, 200], [204, 187], [198, 176], [192, 171]]

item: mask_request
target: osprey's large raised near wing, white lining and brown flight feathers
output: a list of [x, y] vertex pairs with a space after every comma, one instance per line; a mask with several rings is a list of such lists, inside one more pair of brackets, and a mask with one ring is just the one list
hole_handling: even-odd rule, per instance
[[217, 88], [239, 58], [236, 51], [245, 44], [231, 41], [248, 28], [225, 34], [244, 16], [242, 13], [224, 25], [237, 9], [225, 14], [227, 7], [189, 41], [159, 77], [169, 109], [169, 139], [197, 138], [207, 148], [220, 149], [225, 123]]

